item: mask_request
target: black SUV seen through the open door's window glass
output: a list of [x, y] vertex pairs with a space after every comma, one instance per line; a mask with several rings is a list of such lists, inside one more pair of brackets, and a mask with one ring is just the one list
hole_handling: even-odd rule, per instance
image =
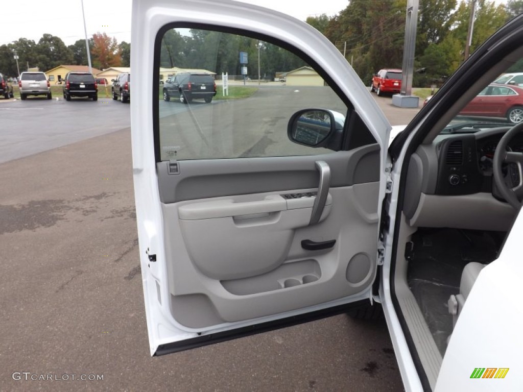
[[207, 103], [216, 95], [214, 78], [206, 73], [180, 73], [170, 76], [163, 86], [165, 101], [171, 97], [178, 98], [181, 103], [193, 99], [204, 99]]

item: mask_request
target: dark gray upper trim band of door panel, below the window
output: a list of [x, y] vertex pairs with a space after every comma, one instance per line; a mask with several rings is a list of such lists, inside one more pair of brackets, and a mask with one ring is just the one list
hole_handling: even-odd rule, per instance
[[158, 188], [163, 203], [261, 192], [314, 189], [316, 160], [331, 168], [331, 187], [379, 181], [380, 148], [370, 144], [324, 155], [199, 159], [178, 161], [180, 174], [168, 175], [168, 162], [158, 162]]

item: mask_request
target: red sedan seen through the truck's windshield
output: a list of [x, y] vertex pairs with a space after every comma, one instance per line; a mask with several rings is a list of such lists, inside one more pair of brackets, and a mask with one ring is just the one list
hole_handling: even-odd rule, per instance
[[460, 111], [465, 116], [505, 117], [513, 124], [523, 121], [523, 88], [491, 84]]

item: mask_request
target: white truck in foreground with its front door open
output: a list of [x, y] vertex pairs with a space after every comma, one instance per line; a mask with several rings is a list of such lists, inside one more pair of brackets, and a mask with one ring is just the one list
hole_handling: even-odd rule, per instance
[[[228, 0], [133, 0], [133, 17], [151, 355], [383, 312], [406, 391], [521, 390], [523, 122], [458, 114], [522, 60], [523, 14], [475, 48], [390, 145], [368, 87], [304, 22]], [[152, 99], [161, 59], [187, 42], [184, 66], [212, 45], [221, 56], [207, 66], [220, 70], [258, 40], [300, 57], [324, 87], [267, 86], [198, 108]]]

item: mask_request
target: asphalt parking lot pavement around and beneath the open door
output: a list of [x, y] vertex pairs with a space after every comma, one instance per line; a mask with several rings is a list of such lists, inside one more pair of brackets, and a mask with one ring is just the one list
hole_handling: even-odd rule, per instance
[[[376, 98], [393, 122], [416, 112]], [[0, 103], [1, 391], [403, 389], [384, 321], [345, 315], [151, 358], [129, 106], [105, 102]], [[5, 110], [22, 103], [49, 123]]]

